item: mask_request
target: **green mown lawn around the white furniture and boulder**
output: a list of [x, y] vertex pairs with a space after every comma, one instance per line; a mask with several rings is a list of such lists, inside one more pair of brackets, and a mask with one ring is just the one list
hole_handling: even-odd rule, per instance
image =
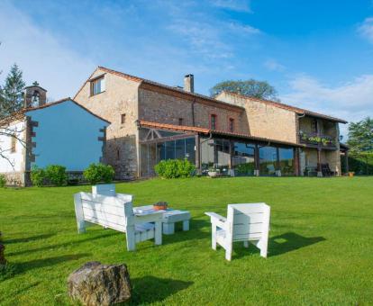
[[[69, 304], [68, 275], [87, 261], [126, 263], [133, 303], [373, 303], [373, 177], [193, 178], [117, 184], [134, 205], [169, 202], [192, 213], [190, 230], [127, 252], [122, 233], [77, 234], [73, 194], [89, 186], [0, 190], [0, 230], [16, 273], [0, 281], [0, 304]], [[268, 258], [241, 243], [232, 262], [211, 246], [205, 211], [231, 202], [271, 207]], [[4, 277], [3, 277], [4, 278]]]

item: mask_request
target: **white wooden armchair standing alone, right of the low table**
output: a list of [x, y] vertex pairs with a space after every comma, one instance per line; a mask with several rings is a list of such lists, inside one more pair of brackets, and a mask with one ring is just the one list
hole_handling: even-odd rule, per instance
[[229, 204], [227, 218], [214, 212], [205, 212], [212, 223], [212, 247], [216, 243], [225, 249], [225, 258], [232, 259], [232, 244], [249, 241], [260, 249], [260, 256], [267, 257], [270, 207], [266, 203]]

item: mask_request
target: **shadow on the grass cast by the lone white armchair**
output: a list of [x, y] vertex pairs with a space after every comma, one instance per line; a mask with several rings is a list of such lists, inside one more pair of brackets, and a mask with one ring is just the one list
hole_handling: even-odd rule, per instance
[[[296, 234], [295, 232], [287, 232], [272, 238], [268, 241], [268, 257], [276, 257], [283, 255], [288, 252], [295, 251], [302, 247], [308, 247], [315, 243], [326, 240], [323, 237], [304, 237]], [[238, 245], [239, 242], [235, 242]], [[250, 244], [249, 248], [243, 247], [243, 243], [240, 242], [240, 247], [234, 247], [236, 255], [234, 258], [241, 258], [250, 254], [259, 253], [259, 248]]]

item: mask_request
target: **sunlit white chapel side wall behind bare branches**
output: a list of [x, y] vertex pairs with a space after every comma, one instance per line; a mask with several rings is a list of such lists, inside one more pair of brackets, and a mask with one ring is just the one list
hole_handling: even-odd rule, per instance
[[[0, 129], [4, 130], [4, 129]], [[7, 130], [12, 131], [19, 139], [23, 139], [24, 121], [15, 121]], [[0, 149], [5, 157], [9, 158], [12, 165], [4, 157], [0, 157], [0, 173], [23, 171], [23, 143], [16, 141], [15, 152], [11, 153], [12, 137], [0, 135]]]

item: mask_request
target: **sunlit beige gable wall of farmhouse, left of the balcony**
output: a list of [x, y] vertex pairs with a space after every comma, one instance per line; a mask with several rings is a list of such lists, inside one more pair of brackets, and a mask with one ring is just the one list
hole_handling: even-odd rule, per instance
[[223, 92], [216, 99], [245, 108], [251, 136], [297, 142], [296, 112], [237, 94]]

